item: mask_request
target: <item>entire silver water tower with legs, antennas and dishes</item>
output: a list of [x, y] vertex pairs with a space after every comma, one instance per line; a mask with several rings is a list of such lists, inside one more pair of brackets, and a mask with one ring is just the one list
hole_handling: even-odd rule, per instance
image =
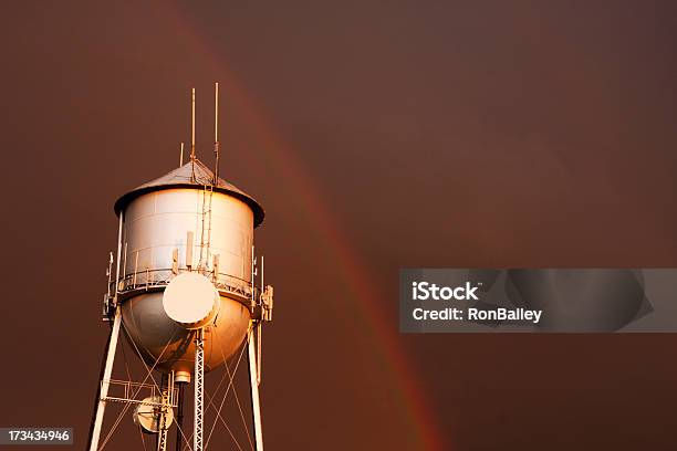
[[[213, 171], [195, 153], [195, 90], [191, 106], [188, 161], [184, 164], [181, 145], [178, 168], [115, 202], [117, 258], [111, 253], [103, 312], [112, 327], [90, 451], [105, 448], [127, 411], [144, 432], [156, 436], [158, 451], [167, 449], [171, 427], [177, 430], [177, 450], [204, 450], [205, 374], [226, 365], [238, 349], [247, 349], [253, 443], [257, 451], [263, 449], [258, 390], [261, 325], [272, 318], [273, 304], [272, 287], [263, 285], [262, 258], [260, 275], [254, 258], [253, 230], [263, 221], [263, 209], [218, 176], [218, 83]], [[111, 378], [121, 332], [144, 363], [142, 380]], [[188, 384], [194, 384], [195, 394], [190, 430], [183, 424]], [[102, 437], [110, 402], [123, 402], [124, 409]]]

